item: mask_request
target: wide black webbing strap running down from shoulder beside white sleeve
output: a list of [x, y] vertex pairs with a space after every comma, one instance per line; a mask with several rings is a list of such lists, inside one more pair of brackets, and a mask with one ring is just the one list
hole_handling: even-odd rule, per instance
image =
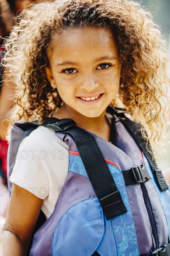
[[[63, 122], [67, 121], [63, 119]], [[84, 129], [74, 126], [74, 123], [67, 129], [64, 125], [60, 126], [60, 121], [49, 124], [47, 127], [63, 134], [69, 134], [75, 140], [81, 160], [106, 219], [109, 220], [127, 212], [95, 138]]]

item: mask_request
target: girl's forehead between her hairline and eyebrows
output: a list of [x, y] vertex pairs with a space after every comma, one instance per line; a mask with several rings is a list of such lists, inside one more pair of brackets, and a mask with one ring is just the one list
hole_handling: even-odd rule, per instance
[[117, 47], [111, 31], [107, 28], [70, 28], [61, 34], [55, 34], [47, 49], [49, 59], [52, 57], [72, 56], [80, 58], [80, 54], [117, 53]]

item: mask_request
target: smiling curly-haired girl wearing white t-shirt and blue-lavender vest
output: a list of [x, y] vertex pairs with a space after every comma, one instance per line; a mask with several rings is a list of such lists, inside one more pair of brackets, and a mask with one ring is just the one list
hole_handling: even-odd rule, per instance
[[[17, 121], [70, 118], [88, 131], [106, 158], [125, 210], [106, 220], [75, 142], [40, 126], [21, 142], [10, 177], [3, 255], [26, 254], [40, 209], [47, 221], [35, 234], [30, 255], [150, 255], [168, 248], [160, 192], [149, 195], [154, 179], [148, 176], [130, 190], [120, 171], [145, 163], [151, 175], [150, 166], [107, 108], [120, 99], [149, 128], [150, 139], [162, 136], [167, 57], [150, 13], [122, 0], [40, 3], [21, 13], [6, 49], [4, 66], [17, 79]], [[148, 140], [144, 129], [142, 135]], [[112, 154], [118, 150], [120, 158]], [[128, 153], [135, 150], [139, 158]], [[134, 189], [139, 194], [132, 194]]]

